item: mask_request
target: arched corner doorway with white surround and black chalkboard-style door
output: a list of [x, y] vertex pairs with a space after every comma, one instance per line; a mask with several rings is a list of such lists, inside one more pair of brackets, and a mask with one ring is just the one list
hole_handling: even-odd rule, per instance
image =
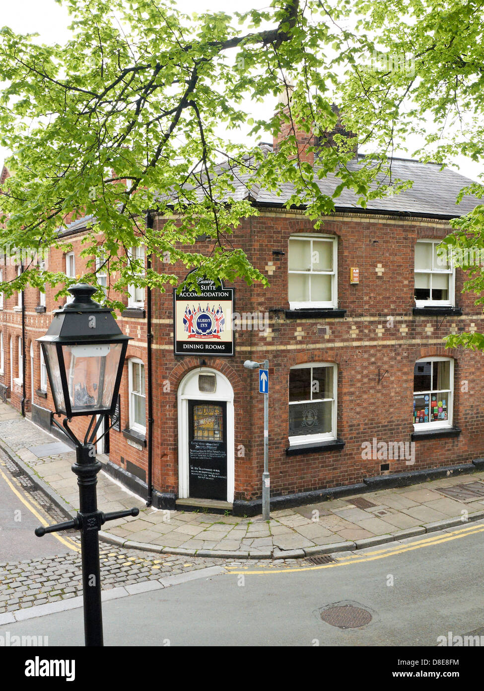
[[178, 496], [233, 502], [233, 388], [200, 367], [178, 387]]

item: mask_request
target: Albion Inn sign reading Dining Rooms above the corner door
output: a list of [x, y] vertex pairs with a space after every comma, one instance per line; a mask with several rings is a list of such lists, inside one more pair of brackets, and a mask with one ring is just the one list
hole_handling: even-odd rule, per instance
[[233, 355], [233, 288], [198, 278], [196, 290], [173, 291], [175, 355]]

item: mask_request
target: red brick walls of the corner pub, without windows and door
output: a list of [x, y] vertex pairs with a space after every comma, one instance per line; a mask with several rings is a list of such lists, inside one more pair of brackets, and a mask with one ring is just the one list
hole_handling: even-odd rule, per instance
[[[162, 225], [162, 220], [157, 221]], [[449, 352], [442, 339], [450, 332], [484, 329], [481, 310], [472, 294], [461, 294], [464, 276], [456, 272], [456, 305], [460, 318], [413, 316], [414, 247], [418, 238], [443, 238], [445, 223], [422, 219], [401, 220], [362, 214], [334, 215], [325, 220], [321, 233], [338, 237], [338, 307], [347, 310], [342, 319], [287, 319], [287, 261], [289, 236], [313, 230], [311, 222], [296, 211], [275, 214], [263, 210], [257, 218], [243, 220], [231, 238], [243, 247], [258, 269], [268, 275], [267, 290], [260, 285], [235, 282], [235, 310], [268, 312], [267, 335], [253, 331], [235, 332], [235, 357], [191, 357], [173, 354], [173, 294], [153, 292], [153, 486], [177, 493], [177, 390], [186, 372], [206, 365], [223, 372], [233, 386], [235, 406], [235, 498], [260, 497], [263, 464], [263, 397], [258, 392], [257, 375], [245, 370], [245, 359], [270, 362], [269, 465], [273, 495], [309, 491], [360, 482], [378, 475], [384, 460], [363, 460], [362, 444], [378, 441], [409, 442], [413, 431], [412, 397], [414, 363], [420, 357], [454, 357], [454, 424], [462, 428], [458, 437], [416, 442], [416, 462], [389, 461], [391, 472], [401, 472], [463, 463], [484, 455], [481, 429], [484, 394], [481, 353]], [[69, 238], [76, 253], [76, 270], [81, 234]], [[196, 243], [195, 252], [209, 252], [208, 240]], [[273, 250], [282, 251], [276, 257]], [[52, 249], [49, 267], [64, 267], [61, 250]], [[380, 267], [378, 267], [380, 265]], [[360, 283], [350, 285], [349, 269], [360, 269]], [[156, 261], [154, 268], [157, 268]], [[159, 265], [159, 270], [166, 269]], [[378, 269], [378, 271], [376, 270]], [[383, 269], [383, 270], [381, 270]], [[180, 278], [186, 268], [169, 267]], [[13, 277], [14, 266], [3, 267]], [[47, 312], [37, 314], [37, 290], [26, 290], [26, 390], [30, 399], [30, 340], [43, 335], [52, 318], [55, 291], [48, 289]], [[63, 302], [63, 301], [61, 301]], [[3, 330], [4, 373], [10, 381], [9, 339], [14, 338], [14, 377], [17, 376], [17, 337], [21, 334], [20, 314], [14, 310], [16, 298], [4, 301], [0, 312]], [[388, 318], [393, 318], [393, 323]], [[442, 322], [442, 323], [441, 323]], [[474, 326], [472, 326], [474, 324]], [[133, 337], [129, 357], [139, 357], [146, 365], [146, 319], [119, 318], [124, 332]], [[325, 333], [325, 328], [329, 332]], [[35, 390], [39, 388], [39, 346], [34, 340]], [[286, 455], [288, 446], [288, 383], [291, 366], [316, 361], [338, 365], [338, 437], [345, 442], [340, 451]], [[121, 387], [121, 428], [128, 426], [127, 363]], [[378, 370], [387, 370], [378, 381]], [[467, 382], [466, 385], [463, 382]], [[19, 409], [21, 390], [14, 387], [12, 404]], [[35, 404], [52, 409], [52, 396], [34, 395]], [[80, 430], [81, 422], [74, 425]], [[79, 427], [77, 426], [79, 425]], [[238, 455], [241, 445], [244, 456]], [[129, 446], [122, 433], [110, 433], [110, 460], [124, 467], [130, 461], [147, 471], [147, 450]]]

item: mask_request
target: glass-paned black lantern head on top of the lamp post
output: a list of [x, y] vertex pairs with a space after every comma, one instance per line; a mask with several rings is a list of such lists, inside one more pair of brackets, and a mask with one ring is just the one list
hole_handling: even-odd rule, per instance
[[78, 283], [74, 300], [54, 319], [41, 343], [55, 411], [76, 415], [113, 415], [129, 337], [113, 314], [95, 303], [92, 285]]

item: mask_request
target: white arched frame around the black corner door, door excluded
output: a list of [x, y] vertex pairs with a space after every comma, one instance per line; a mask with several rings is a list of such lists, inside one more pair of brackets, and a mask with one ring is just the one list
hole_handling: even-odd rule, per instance
[[[215, 392], [207, 393], [198, 388], [198, 375], [215, 375]], [[209, 367], [191, 370], [178, 387], [178, 496], [188, 499], [188, 401], [224, 401], [227, 406], [227, 502], [233, 502], [235, 485], [235, 437], [233, 388], [222, 372]]]

